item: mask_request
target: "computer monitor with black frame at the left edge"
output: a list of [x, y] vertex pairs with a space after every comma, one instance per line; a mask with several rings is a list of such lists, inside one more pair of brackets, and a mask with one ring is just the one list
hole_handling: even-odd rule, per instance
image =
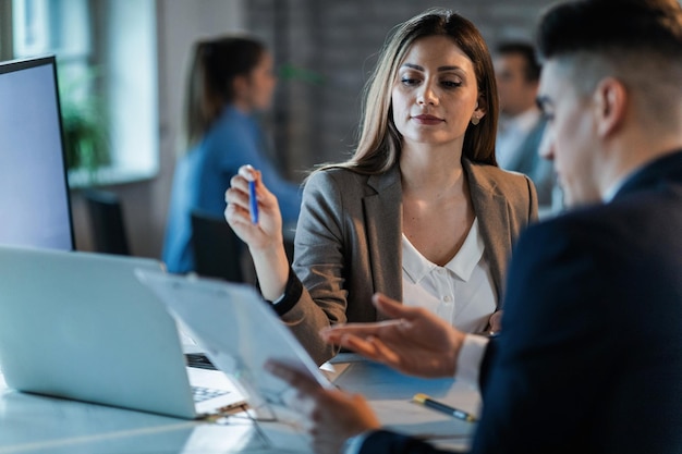
[[0, 244], [74, 249], [53, 56], [0, 63]]

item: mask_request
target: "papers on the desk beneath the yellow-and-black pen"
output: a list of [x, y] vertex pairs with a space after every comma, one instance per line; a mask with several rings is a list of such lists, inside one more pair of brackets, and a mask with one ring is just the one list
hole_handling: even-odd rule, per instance
[[[465, 449], [476, 425], [435, 412], [412, 402], [416, 393], [425, 393], [444, 404], [478, 416], [480, 395], [471, 384], [454, 379], [421, 379], [405, 376], [373, 361], [352, 361], [334, 384], [342, 390], [367, 396], [379, 420], [397, 431], [433, 441], [448, 441], [444, 445]], [[439, 443], [436, 443], [439, 444]]]

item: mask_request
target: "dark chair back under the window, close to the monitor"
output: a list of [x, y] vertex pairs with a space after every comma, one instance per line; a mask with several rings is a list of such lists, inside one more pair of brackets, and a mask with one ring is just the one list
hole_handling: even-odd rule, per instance
[[123, 208], [115, 193], [88, 189], [83, 193], [93, 230], [95, 250], [105, 254], [130, 255]]

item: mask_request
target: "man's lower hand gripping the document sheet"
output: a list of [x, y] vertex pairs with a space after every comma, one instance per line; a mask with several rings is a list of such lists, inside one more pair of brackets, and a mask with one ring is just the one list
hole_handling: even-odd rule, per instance
[[349, 438], [380, 428], [362, 395], [326, 390], [309, 377], [275, 360], [265, 368], [297, 390], [295, 408], [308, 420], [315, 453], [338, 454]]

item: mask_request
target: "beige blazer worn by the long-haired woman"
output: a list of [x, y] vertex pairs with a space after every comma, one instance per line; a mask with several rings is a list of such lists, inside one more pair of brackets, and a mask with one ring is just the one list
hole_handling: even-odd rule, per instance
[[[501, 300], [507, 265], [521, 231], [537, 219], [531, 180], [463, 160], [485, 256]], [[282, 320], [321, 364], [338, 353], [319, 330], [381, 319], [376, 292], [402, 299], [402, 187], [398, 167], [380, 175], [348, 169], [313, 174], [303, 191], [293, 269], [303, 294]]]

